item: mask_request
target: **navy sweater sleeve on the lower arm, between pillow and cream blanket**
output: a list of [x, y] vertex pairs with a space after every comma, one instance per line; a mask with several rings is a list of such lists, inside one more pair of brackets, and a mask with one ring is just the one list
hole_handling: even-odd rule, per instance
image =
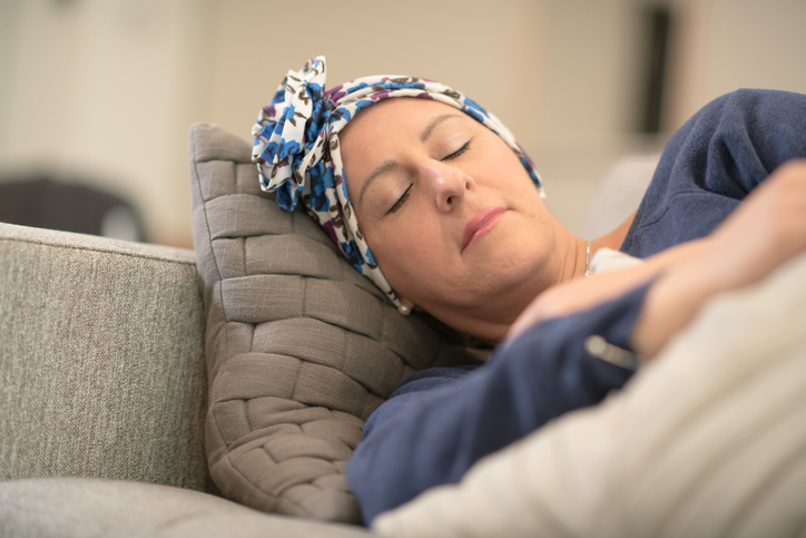
[[621, 388], [632, 371], [589, 354], [584, 341], [599, 335], [629, 350], [648, 287], [540, 323], [475, 370], [441, 369], [404, 382], [370, 417], [347, 467], [364, 521], [459, 481], [480, 458]]

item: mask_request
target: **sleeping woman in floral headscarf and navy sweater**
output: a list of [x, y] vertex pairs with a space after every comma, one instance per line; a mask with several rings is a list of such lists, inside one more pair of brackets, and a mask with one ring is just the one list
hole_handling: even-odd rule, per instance
[[[600, 402], [708, 299], [806, 250], [806, 96], [707, 105], [670, 139], [637, 212], [588, 242], [464, 95], [401, 76], [326, 90], [325, 78], [325, 59], [309, 60], [262, 110], [263, 187], [283, 208], [303, 203], [402, 315], [497, 345], [483, 364], [406, 379], [367, 420], [347, 469], [367, 524]], [[613, 260], [629, 267], [594, 274]]]

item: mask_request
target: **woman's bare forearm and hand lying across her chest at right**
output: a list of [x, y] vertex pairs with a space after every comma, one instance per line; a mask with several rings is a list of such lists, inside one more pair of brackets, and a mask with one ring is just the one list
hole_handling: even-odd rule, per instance
[[806, 159], [793, 159], [708, 237], [650, 256], [640, 266], [547, 290], [515, 321], [507, 341], [535, 323], [589, 309], [656, 278], [632, 335], [636, 351], [651, 359], [708, 299], [759, 281], [804, 248]]

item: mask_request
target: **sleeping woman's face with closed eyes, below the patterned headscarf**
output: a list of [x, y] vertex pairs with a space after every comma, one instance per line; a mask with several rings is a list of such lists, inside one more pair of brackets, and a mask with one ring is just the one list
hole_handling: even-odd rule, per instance
[[394, 98], [362, 110], [340, 140], [358, 226], [404, 304], [497, 340], [490, 324], [508, 326], [556, 282], [559, 223], [480, 123]]

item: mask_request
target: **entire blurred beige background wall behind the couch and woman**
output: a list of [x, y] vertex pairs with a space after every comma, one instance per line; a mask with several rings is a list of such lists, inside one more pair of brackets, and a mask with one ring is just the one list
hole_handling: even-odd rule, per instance
[[130, 200], [188, 246], [187, 134], [250, 139], [288, 69], [405, 74], [493, 110], [579, 226], [620, 156], [659, 151], [739, 87], [806, 92], [806, 0], [0, 0], [0, 183]]

